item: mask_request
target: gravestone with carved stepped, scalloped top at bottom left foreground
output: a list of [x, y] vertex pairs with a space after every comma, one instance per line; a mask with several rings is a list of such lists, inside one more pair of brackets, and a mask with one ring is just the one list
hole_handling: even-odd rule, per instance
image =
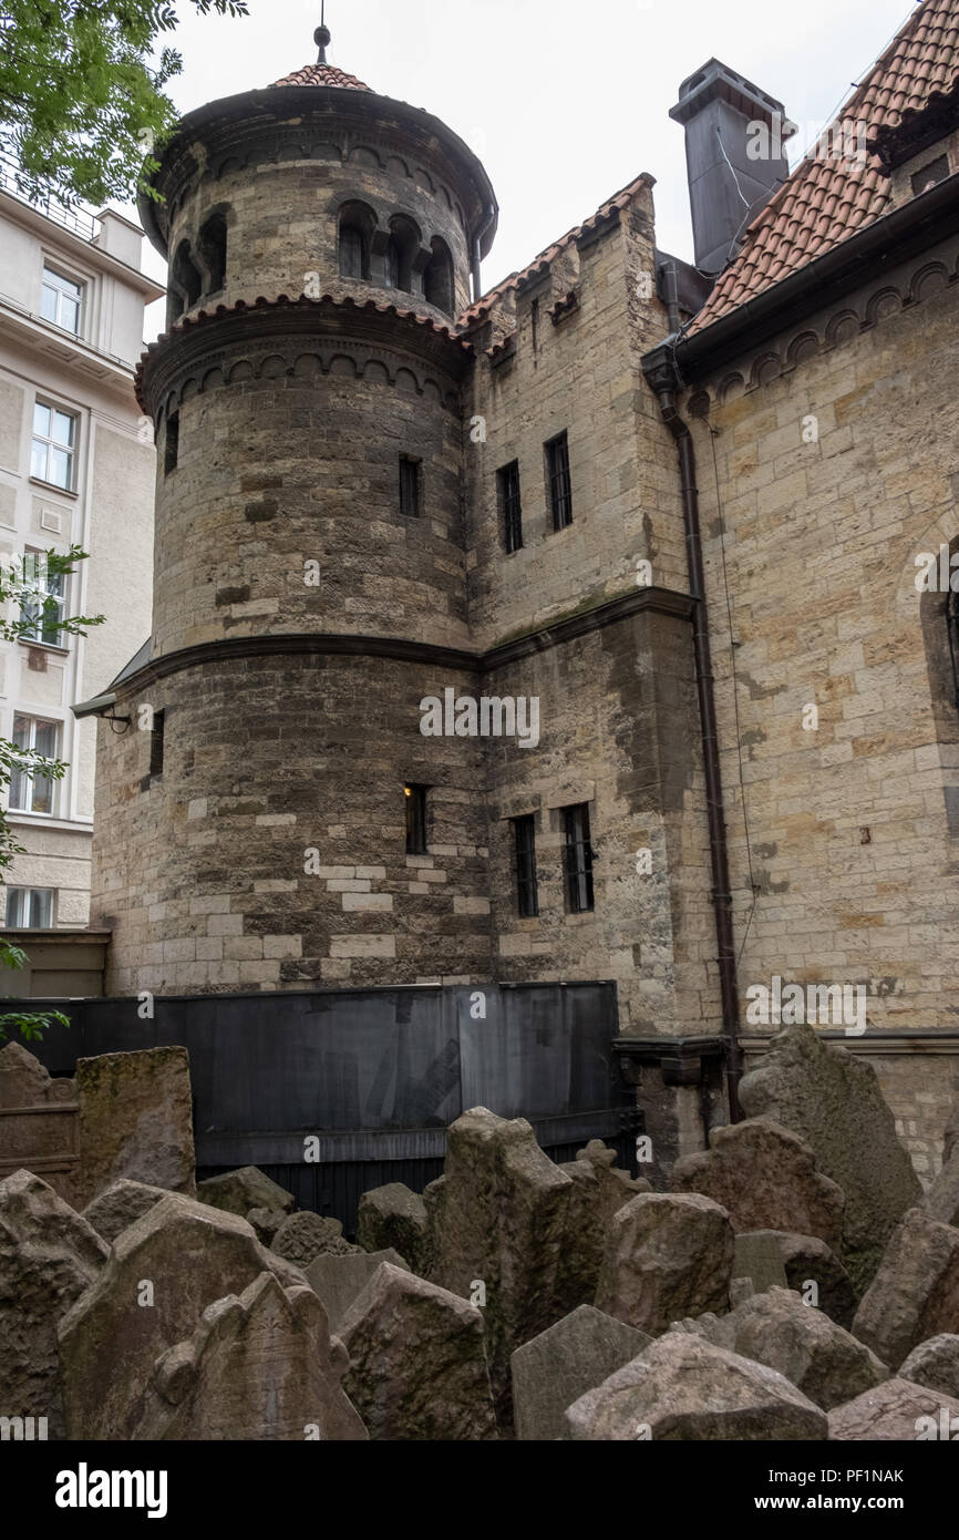
[[340, 1386], [345, 1368], [312, 1289], [283, 1289], [262, 1272], [239, 1298], [208, 1306], [192, 1337], [157, 1360], [140, 1437], [366, 1438]]

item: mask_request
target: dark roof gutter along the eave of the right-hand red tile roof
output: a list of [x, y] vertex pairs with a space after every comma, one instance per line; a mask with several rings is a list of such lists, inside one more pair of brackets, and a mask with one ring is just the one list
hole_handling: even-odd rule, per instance
[[[874, 279], [884, 259], [905, 259], [937, 239], [959, 231], [959, 174], [937, 182], [928, 192], [910, 199], [882, 219], [850, 236], [830, 251], [771, 288], [720, 316], [703, 331], [683, 337], [674, 359], [685, 383], [728, 359], [737, 357], [790, 322], [822, 310], [865, 279]], [[656, 353], [659, 350], [654, 350]], [[645, 363], [643, 363], [645, 368]]]

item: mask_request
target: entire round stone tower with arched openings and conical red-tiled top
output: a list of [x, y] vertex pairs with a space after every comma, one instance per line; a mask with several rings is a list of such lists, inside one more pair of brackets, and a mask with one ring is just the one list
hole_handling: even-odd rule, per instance
[[185, 117], [140, 203], [169, 300], [152, 642], [100, 728], [117, 993], [490, 976], [477, 745], [419, 704], [479, 693], [454, 326], [496, 199], [317, 42]]

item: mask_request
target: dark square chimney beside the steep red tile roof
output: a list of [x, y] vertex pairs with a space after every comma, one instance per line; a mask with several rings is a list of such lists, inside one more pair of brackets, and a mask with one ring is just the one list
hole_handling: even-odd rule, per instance
[[788, 177], [784, 146], [796, 125], [782, 102], [717, 59], [683, 80], [670, 117], [687, 134], [696, 266], [716, 276]]

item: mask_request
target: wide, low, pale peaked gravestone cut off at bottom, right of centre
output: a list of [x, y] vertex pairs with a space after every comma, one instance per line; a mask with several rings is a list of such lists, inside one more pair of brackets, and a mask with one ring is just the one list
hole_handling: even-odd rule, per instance
[[636, 1440], [825, 1438], [827, 1418], [774, 1369], [668, 1332], [566, 1411], [570, 1437]]

